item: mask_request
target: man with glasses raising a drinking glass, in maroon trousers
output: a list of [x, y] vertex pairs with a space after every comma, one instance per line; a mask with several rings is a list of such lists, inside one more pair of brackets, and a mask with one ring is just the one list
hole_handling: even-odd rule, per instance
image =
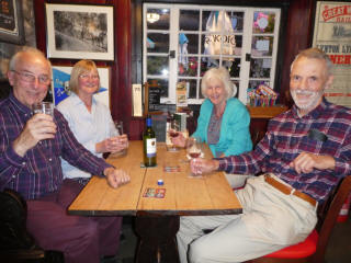
[[98, 263], [102, 255], [115, 254], [120, 218], [67, 215], [82, 186], [63, 182], [60, 157], [105, 176], [112, 187], [127, 183], [129, 175], [83, 148], [58, 111], [54, 118], [32, 114], [32, 105], [44, 100], [52, 79], [52, 66], [43, 53], [22, 50], [12, 57], [9, 68], [13, 91], [0, 102], [0, 190], [23, 195], [29, 231], [43, 249], [63, 251], [66, 262]]

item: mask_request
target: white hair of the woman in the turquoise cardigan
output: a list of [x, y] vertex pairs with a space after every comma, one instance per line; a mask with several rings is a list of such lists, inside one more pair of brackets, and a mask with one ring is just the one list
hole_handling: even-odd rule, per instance
[[234, 96], [237, 92], [237, 87], [230, 80], [230, 75], [225, 67], [211, 68], [208, 69], [201, 81], [201, 93], [204, 98], [206, 96], [206, 90], [208, 88], [208, 81], [212, 79], [217, 79], [222, 81], [224, 89], [226, 91], [226, 100]]

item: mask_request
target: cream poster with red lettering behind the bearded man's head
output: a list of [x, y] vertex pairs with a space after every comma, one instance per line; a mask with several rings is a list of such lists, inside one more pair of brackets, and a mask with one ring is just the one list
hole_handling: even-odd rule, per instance
[[315, 47], [335, 65], [335, 79], [325, 91], [328, 101], [351, 107], [351, 3], [318, 1], [314, 30]]

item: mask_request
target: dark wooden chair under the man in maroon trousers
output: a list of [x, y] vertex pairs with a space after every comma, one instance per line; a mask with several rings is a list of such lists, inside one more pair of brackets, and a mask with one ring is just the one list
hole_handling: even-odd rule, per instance
[[39, 248], [26, 230], [26, 202], [12, 190], [0, 192], [0, 262], [61, 263], [64, 254]]

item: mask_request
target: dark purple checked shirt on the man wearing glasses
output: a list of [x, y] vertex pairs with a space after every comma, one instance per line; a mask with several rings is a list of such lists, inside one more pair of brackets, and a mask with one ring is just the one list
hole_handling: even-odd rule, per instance
[[22, 158], [14, 152], [12, 142], [32, 113], [12, 93], [0, 102], [0, 190], [15, 190], [26, 199], [57, 191], [63, 182], [59, 157], [92, 174], [102, 174], [105, 168], [111, 167], [77, 141], [58, 111], [55, 110], [54, 115], [57, 125], [55, 138], [39, 141]]

